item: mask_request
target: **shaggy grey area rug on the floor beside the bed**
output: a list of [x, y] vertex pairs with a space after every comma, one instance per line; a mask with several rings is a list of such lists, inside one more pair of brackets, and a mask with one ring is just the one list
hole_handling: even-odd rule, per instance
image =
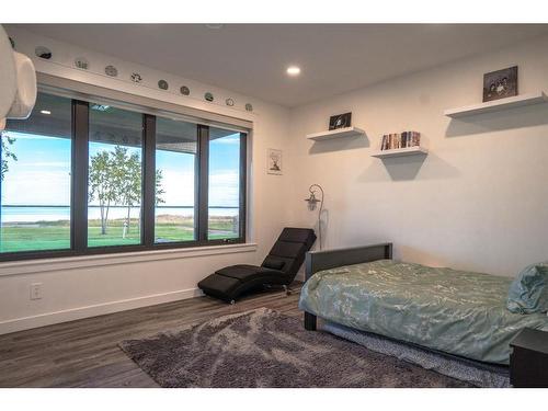
[[469, 387], [266, 308], [119, 346], [161, 387]]

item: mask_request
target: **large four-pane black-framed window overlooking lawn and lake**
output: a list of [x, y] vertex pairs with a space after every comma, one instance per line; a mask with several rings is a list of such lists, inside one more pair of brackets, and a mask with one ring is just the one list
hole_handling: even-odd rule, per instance
[[39, 92], [1, 142], [0, 261], [246, 240], [246, 133]]

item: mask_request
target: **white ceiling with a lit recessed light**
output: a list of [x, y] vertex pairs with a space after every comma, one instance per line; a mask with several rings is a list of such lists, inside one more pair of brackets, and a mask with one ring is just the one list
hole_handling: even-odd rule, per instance
[[[548, 33], [547, 24], [23, 24], [59, 41], [285, 106]], [[301, 67], [289, 78], [288, 65]], [[494, 68], [495, 69], [495, 68]]]

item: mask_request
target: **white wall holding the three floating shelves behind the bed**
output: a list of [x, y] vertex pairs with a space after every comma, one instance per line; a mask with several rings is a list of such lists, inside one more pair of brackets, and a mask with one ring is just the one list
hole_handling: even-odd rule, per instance
[[[397, 259], [510, 276], [548, 260], [548, 104], [443, 115], [481, 102], [483, 73], [513, 65], [520, 93], [548, 90], [547, 49], [537, 38], [294, 110], [290, 221], [315, 222], [302, 198], [320, 183], [327, 248], [392, 241]], [[346, 111], [367, 138], [305, 138]], [[370, 157], [383, 134], [407, 129], [426, 140], [423, 161]]]

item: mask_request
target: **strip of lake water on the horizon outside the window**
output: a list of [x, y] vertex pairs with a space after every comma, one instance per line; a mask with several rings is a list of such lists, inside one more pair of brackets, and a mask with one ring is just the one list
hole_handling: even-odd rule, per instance
[[[2, 222], [36, 222], [36, 221], [59, 221], [70, 219], [70, 207], [49, 207], [49, 206], [2, 206], [0, 212]], [[194, 215], [193, 207], [156, 207], [156, 215], [172, 215], [182, 217], [192, 217]], [[209, 207], [210, 216], [228, 216], [238, 215], [237, 207]], [[109, 210], [109, 219], [125, 218], [127, 216], [126, 207], [111, 207]], [[132, 218], [138, 218], [139, 208], [132, 207]], [[101, 212], [98, 206], [88, 208], [89, 219], [100, 219]]]

